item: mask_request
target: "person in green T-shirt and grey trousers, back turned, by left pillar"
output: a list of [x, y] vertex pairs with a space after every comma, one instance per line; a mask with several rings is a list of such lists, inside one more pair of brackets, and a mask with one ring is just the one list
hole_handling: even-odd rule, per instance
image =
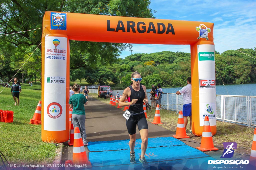
[[83, 94], [80, 94], [80, 85], [75, 83], [72, 86], [72, 90], [75, 92], [69, 99], [69, 107], [73, 108], [72, 112], [72, 122], [73, 126], [78, 127], [82, 136], [83, 145], [87, 146], [88, 141], [86, 140], [86, 130], [85, 130], [85, 110], [84, 104], [88, 104], [88, 100]]

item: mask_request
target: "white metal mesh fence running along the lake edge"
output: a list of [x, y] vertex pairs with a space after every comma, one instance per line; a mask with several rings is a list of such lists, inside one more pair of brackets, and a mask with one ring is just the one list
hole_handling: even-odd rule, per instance
[[[117, 91], [120, 96], [123, 94], [123, 90], [113, 90], [113, 96], [116, 96]], [[90, 89], [90, 93], [98, 93], [98, 91]], [[147, 96], [150, 96], [148, 91]], [[150, 97], [148, 100], [151, 105]], [[163, 109], [178, 113], [183, 107], [182, 95], [163, 93], [161, 103]], [[216, 119], [249, 127], [256, 126], [256, 96], [216, 95]]]

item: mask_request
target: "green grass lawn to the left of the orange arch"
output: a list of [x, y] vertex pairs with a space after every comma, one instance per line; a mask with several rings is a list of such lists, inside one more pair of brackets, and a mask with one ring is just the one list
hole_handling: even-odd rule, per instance
[[20, 106], [14, 106], [10, 88], [0, 93], [0, 110], [14, 112], [13, 123], [0, 122], [0, 151], [10, 163], [51, 164], [56, 156], [58, 146], [41, 140], [41, 125], [29, 124], [41, 100], [40, 89], [40, 83], [22, 85]]

